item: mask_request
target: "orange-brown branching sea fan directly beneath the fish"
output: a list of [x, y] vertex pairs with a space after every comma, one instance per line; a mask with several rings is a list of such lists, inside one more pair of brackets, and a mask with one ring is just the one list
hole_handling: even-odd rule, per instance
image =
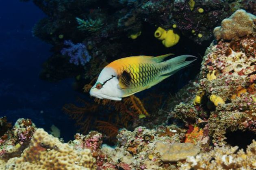
[[[97, 77], [84, 86], [83, 89], [85, 92], [89, 92], [96, 79]], [[67, 104], [63, 107], [63, 110], [72, 119], [76, 120], [76, 125], [80, 127], [80, 130], [86, 133], [94, 127], [111, 139], [113, 139], [113, 136], [116, 136], [119, 128], [128, 127], [129, 123], [137, 119], [140, 114], [149, 115], [143, 107], [141, 100], [134, 95], [126, 97], [122, 101], [98, 98], [94, 99], [94, 103], [82, 99], [78, 101], [84, 105], [78, 107], [74, 104]], [[101, 110], [108, 110], [110, 112], [107, 121], [106, 117], [100, 117], [99, 114], [97, 116], [97, 113], [101, 113]]]

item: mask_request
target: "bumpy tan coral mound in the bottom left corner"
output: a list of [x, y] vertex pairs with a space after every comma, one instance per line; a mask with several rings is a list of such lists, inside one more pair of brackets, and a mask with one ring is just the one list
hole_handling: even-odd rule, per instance
[[37, 129], [28, 148], [21, 157], [7, 162], [0, 160], [0, 169], [5, 170], [93, 170], [95, 159], [89, 149], [75, 150], [69, 144], [63, 144], [58, 138], [49, 135], [43, 129]]

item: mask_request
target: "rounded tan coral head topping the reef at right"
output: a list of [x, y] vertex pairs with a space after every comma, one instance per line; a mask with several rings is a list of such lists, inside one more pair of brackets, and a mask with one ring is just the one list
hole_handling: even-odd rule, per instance
[[217, 40], [231, 40], [235, 37], [243, 37], [252, 34], [255, 15], [246, 13], [245, 10], [239, 9], [229, 18], [223, 19], [221, 26], [216, 27], [213, 33]]

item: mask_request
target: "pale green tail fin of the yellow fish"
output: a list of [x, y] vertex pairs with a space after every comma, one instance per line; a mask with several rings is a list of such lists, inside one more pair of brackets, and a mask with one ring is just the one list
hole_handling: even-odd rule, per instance
[[191, 56], [191, 55], [182, 55], [178, 57], [171, 58], [166, 61], [166, 63], [170, 66], [170, 69], [168, 70], [168, 73], [164, 73], [161, 76], [170, 76], [176, 73], [177, 71], [188, 67], [189, 64], [193, 61], [195, 61], [197, 57]]

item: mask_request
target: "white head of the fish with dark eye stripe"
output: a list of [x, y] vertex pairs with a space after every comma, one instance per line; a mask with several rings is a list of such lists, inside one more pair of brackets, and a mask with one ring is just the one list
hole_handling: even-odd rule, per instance
[[111, 67], [105, 67], [101, 72], [90, 95], [100, 99], [121, 100], [124, 92], [119, 87], [116, 71]]

